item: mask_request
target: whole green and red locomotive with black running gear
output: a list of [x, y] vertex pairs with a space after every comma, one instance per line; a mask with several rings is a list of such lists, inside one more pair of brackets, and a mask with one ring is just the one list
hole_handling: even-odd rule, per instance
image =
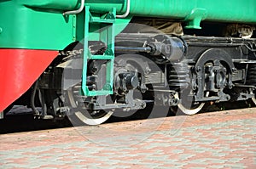
[[0, 0], [0, 116], [256, 104], [255, 16], [254, 0]]

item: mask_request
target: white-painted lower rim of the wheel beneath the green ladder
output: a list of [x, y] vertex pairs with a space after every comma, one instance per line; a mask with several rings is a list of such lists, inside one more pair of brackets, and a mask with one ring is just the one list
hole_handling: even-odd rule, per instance
[[[71, 106], [73, 107], [72, 115], [69, 115], [69, 119], [76, 124], [85, 125], [99, 125], [107, 121], [113, 114], [113, 110], [86, 110], [78, 105], [78, 101], [75, 100], [75, 94], [72, 90], [67, 91], [67, 96]], [[78, 121], [79, 120], [79, 121]]]

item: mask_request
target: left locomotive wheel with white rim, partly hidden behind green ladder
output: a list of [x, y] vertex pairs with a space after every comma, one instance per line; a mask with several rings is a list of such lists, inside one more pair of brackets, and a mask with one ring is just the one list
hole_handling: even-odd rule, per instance
[[[113, 114], [113, 110], [90, 110], [90, 104], [96, 103], [96, 99], [98, 98], [97, 96], [85, 97], [81, 95], [80, 78], [83, 71], [82, 63], [82, 57], [70, 59], [68, 66], [73, 69], [67, 69], [63, 71], [63, 90], [65, 91], [64, 104], [71, 108], [68, 118], [73, 123], [73, 126], [81, 126], [84, 124], [90, 126], [99, 125], [108, 120], [108, 118]], [[95, 64], [100, 66], [96, 67], [96, 70], [93, 71], [90, 66]], [[87, 76], [87, 85], [90, 87], [90, 89], [93, 89], [93, 87], [96, 87], [97, 85], [97, 87], [101, 88], [100, 85], [102, 85], [102, 83], [97, 81], [97, 76], [102, 76], [104, 73], [104, 68], [102, 66], [104, 64], [105, 61], [100, 63], [92, 61], [88, 63], [88, 67], [90, 67], [90, 70], [88, 71], [90, 73]], [[70, 75], [75, 76], [71, 77]], [[112, 100], [111, 104], [113, 104]]]

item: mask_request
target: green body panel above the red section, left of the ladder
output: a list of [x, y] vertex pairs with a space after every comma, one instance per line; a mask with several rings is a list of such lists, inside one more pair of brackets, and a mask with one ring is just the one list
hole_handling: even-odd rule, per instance
[[63, 9], [38, 8], [33, 2], [46, 5], [54, 1], [0, 1], [0, 48], [60, 50], [76, 40], [76, 15], [64, 17]]

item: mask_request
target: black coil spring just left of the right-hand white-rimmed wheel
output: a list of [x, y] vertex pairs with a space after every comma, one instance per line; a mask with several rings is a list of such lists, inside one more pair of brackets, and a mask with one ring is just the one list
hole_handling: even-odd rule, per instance
[[169, 70], [169, 86], [180, 89], [189, 87], [189, 65], [185, 62], [173, 63]]

